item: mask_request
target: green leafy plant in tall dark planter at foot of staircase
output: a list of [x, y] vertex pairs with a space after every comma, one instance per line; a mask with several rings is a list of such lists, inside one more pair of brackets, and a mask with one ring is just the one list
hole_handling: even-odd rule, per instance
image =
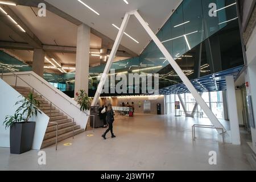
[[38, 97], [41, 96], [34, 96], [33, 93], [29, 93], [27, 98], [16, 102], [15, 105], [20, 106], [14, 115], [7, 115], [3, 122], [6, 129], [10, 127], [11, 154], [22, 154], [32, 148], [35, 122], [30, 121], [30, 118], [41, 113], [38, 109], [39, 101], [36, 100]]

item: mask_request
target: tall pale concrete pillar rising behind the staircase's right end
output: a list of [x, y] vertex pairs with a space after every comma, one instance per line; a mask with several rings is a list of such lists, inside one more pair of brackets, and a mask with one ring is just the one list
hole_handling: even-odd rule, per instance
[[90, 27], [81, 24], [77, 28], [76, 46], [76, 77], [75, 77], [75, 97], [76, 92], [85, 90], [88, 94], [89, 84], [89, 53], [90, 53]]

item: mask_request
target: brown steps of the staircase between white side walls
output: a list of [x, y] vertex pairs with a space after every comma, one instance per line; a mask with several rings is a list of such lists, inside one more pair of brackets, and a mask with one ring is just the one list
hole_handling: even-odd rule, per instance
[[[32, 90], [28, 87], [23, 86], [13, 86], [13, 88], [18, 91], [22, 96], [27, 97], [28, 93], [32, 92]], [[34, 95], [38, 94], [34, 92]], [[58, 123], [58, 138], [57, 141], [73, 137], [73, 125], [74, 125], [74, 135], [80, 134], [84, 131], [81, 129], [79, 125], [76, 123], [73, 124], [71, 118], [68, 118], [67, 115], [61, 113], [59, 109], [51, 106], [51, 104], [45, 100], [44, 98], [36, 98], [40, 102], [39, 109], [43, 111], [43, 113], [47, 114], [49, 117], [49, 122], [57, 122]], [[41, 148], [51, 146], [56, 142], [56, 125], [53, 123], [48, 123], [46, 134], [44, 135], [43, 143]]]

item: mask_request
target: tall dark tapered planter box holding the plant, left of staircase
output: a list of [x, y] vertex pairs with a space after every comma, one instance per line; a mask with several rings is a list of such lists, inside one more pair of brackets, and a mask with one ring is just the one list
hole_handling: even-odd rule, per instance
[[35, 122], [14, 123], [10, 128], [10, 152], [22, 154], [31, 150], [35, 133]]

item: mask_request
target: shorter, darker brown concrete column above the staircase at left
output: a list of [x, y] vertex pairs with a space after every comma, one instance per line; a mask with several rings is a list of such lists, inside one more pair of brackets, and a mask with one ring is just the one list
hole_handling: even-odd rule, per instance
[[43, 49], [34, 49], [32, 71], [40, 77], [44, 75], [44, 57], [46, 53]]

